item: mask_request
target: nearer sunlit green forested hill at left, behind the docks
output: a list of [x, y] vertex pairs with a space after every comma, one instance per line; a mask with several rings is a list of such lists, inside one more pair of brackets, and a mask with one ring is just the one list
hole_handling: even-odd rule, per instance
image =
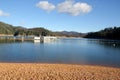
[[3, 22], [0, 22], [0, 34], [5, 35], [53, 35], [52, 31], [49, 31], [44, 28], [32, 28], [32, 29], [26, 29], [21, 26], [12, 26]]

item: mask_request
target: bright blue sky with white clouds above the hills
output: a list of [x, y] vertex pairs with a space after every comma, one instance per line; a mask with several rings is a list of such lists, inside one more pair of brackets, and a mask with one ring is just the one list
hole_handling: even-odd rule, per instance
[[0, 21], [85, 33], [120, 26], [119, 8], [120, 0], [0, 0]]

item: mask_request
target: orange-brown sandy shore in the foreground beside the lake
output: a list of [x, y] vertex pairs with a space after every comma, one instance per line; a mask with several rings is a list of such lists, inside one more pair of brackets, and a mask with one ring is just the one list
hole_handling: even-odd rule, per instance
[[120, 80], [120, 68], [0, 63], [0, 80]]

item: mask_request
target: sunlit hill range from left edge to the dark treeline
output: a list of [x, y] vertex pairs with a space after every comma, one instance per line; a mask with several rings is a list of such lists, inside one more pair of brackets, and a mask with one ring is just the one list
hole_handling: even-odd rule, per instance
[[73, 31], [52, 32], [50, 30], [47, 30], [41, 27], [27, 29], [21, 26], [12, 26], [12, 25], [0, 22], [0, 35], [1, 34], [14, 35], [14, 36], [43, 35], [43, 36], [64, 36], [64, 37], [82, 37], [84, 35], [82, 33], [73, 32]]

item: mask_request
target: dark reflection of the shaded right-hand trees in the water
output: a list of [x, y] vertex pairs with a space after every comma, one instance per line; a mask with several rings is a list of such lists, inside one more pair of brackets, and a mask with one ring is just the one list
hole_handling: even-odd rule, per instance
[[117, 40], [98, 40], [97, 43], [106, 47], [120, 48], [120, 41]]

